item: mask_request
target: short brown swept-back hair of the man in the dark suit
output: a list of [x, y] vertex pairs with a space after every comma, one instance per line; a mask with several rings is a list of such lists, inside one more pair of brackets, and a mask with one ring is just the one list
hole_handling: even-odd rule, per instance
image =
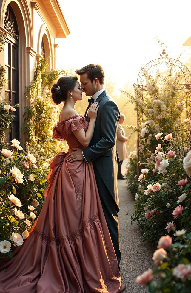
[[92, 83], [93, 83], [93, 80], [95, 80], [95, 78], [98, 78], [99, 83], [101, 85], [104, 84], [105, 74], [104, 74], [103, 68], [99, 64], [89, 64], [87, 66], [82, 67], [81, 69], [76, 69], [76, 73], [78, 75], [87, 73], [87, 77], [88, 79], [91, 80]]

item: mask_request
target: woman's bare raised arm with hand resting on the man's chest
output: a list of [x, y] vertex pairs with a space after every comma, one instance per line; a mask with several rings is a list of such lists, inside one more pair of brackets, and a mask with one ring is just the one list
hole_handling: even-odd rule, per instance
[[77, 140], [84, 147], [88, 147], [90, 140], [92, 139], [94, 127], [95, 127], [95, 123], [96, 123], [98, 107], [99, 107], [98, 102], [94, 102], [89, 108], [88, 116], [90, 118], [90, 122], [89, 122], [88, 129], [86, 132], [84, 131], [84, 129], [73, 130], [73, 134], [76, 136]]

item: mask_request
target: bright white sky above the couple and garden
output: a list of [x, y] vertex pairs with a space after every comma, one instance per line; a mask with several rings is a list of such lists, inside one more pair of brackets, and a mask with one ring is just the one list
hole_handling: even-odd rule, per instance
[[[70, 29], [57, 39], [57, 68], [81, 68], [99, 63], [116, 88], [136, 83], [142, 66], [158, 58], [159, 38], [169, 56], [186, 62], [191, 36], [190, 0], [59, 0]], [[190, 68], [191, 70], [191, 68]]]

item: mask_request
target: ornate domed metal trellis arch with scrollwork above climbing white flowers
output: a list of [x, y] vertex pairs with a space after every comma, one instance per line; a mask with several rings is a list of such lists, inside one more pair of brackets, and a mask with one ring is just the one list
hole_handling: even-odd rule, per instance
[[[164, 49], [160, 52], [160, 57], [154, 59], [143, 68], [138, 74], [137, 83], [134, 85], [141, 88], [141, 90], [147, 89], [145, 75], [151, 76], [156, 79], [156, 84], [162, 89], [162, 85], [167, 85], [167, 80], [173, 78], [175, 85], [180, 85], [180, 89], [186, 90], [186, 116], [191, 118], [191, 74], [186, 65], [177, 59], [168, 57], [168, 53]], [[143, 123], [144, 115], [140, 109], [137, 109], [137, 126]], [[139, 161], [139, 139], [137, 135], [137, 162]], [[137, 170], [139, 174], [139, 167]]]

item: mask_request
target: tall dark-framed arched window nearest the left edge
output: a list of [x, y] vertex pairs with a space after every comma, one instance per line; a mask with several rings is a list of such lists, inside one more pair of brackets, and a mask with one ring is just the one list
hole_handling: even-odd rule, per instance
[[[9, 33], [5, 40], [5, 68], [7, 83], [5, 84], [5, 98], [7, 102], [14, 106], [19, 103], [19, 31], [17, 21], [13, 9], [10, 5], [7, 6], [7, 10], [4, 18], [4, 28]], [[16, 112], [12, 112], [13, 121], [10, 125], [10, 132], [7, 131], [7, 143], [9, 144], [13, 138], [19, 140], [19, 108], [16, 108]]]

